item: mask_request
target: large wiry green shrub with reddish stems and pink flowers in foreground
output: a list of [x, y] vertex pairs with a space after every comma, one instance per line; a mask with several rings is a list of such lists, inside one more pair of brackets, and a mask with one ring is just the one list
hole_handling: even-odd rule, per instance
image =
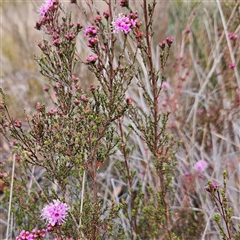
[[[173, 239], [177, 144], [166, 132], [169, 113], [159, 106], [173, 39], [160, 43], [156, 65], [155, 1], [142, 2], [141, 17], [128, 1], [110, 1], [102, 14], [92, 3], [88, 10], [72, 4], [80, 13], [89, 11], [83, 12], [85, 22], [74, 22], [62, 3], [46, 1], [35, 26], [45, 34], [35, 59], [49, 80], [44, 90], [51, 106], [38, 102], [23, 126], [11, 117], [2, 94], [1, 131], [13, 139], [19, 171], [17, 178], [5, 177], [13, 184], [5, 196], [16, 223], [7, 237]], [[81, 34], [87, 58], [76, 47]], [[97, 79], [89, 91], [76, 75], [78, 64]]]

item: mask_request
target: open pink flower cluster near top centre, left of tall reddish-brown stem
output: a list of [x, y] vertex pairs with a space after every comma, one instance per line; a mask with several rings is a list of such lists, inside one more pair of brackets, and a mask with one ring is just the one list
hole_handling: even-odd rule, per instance
[[125, 16], [122, 13], [118, 15], [118, 18], [112, 22], [113, 32], [123, 32], [128, 34], [132, 28], [135, 28], [137, 24], [137, 18], [131, 16]]

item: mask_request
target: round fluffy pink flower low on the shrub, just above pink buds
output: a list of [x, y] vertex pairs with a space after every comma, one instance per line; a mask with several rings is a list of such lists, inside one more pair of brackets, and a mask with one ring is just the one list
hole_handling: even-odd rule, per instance
[[62, 225], [67, 217], [68, 207], [66, 203], [62, 203], [59, 200], [53, 200], [42, 210], [42, 218], [52, 225]]

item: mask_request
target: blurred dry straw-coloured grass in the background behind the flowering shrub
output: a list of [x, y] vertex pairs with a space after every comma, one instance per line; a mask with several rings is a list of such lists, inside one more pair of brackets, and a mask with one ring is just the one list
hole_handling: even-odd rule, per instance
[[[99, 11], [102, 11], [104, 3], [98, 4]], [[132, 4], [140, 7], [138, 1], [132, 1]], [[23, 109], [29, 113], [37, 102], [49, 101], [43, 91], [48, 82], [40, 75], [33, 60], [33, 54], [39, 53], [36, 41], [43, 37], [33, 28], [38, 17], [38, 3], [3, 2], [1, 8], [1, 84], [12, 115], [24, 121]], [[222, 172], [227, 170], [228, 200], [236, 215], [233, 221], [236, 226], [240, 224], [237, 215], [240, 208], [239, 1], [223, 1], [221, 4], [215, 1], [160, 1], [155, 17], [155, 44], [166, 36], [174, 37], [166, 68], [169, 87], [163, 88], [160, 101], [162, 111], [171, 112], [168, 131], [181, 141], [176, 155], [176, 192], [172, 204], [175, 232], [186, 240], [220, 239], [213, 221], [216, 209], [205, 186], [209, 179], [221, 183]], [[238, 37], [232, 40], [229, 33]], [[83, 46], [80, 54], [86, 56], [84, 39], [79, 39], [78, 44]], [[158, 51], [156, 48], [154, 53], [156, 66]], [[236, 67], [230, 68], [231, 63]], [[95, 81], [91, 73], [80, 66], [78, 75], [83, 86], [88, 87]], [[141, 102], [141, 96], [135, 94], [134, 88], [129, 95]], [[141, 107], [144, 109], [146, 106]], [[1, 160], [9, 161], [11, 166], [10, 148], [2, 137], [0, 140]], [[150, 155], [143, 142], [132, 140], [138, 141], [139, 146], [132, 164], [141, 172], [149, 164]], [[200, 159], [209, 164], [202, 176], [194, 170]], [[141, 169], [142, 166], [144, 168]], [[110, 161], [100, 173], [100, 177], [105, 179], [102, 194], [106, 196], [109, 192], [116, 196], [122, 191], [116, 180], [120, 173], [110, 174], [113, 167]], [[15, 172], [17, 174], [17, 169]], [[40, 179], [41, 173], [34, 173], [36, 180]], [[151, 172], [146, 177], [151, 178]], [[154, 181], [152, 184], [154, 188]], [[0, 180], [1, 198], [4, 188], [9, 187]], [[3, 239], [7, 222], [12, 220], [7, 218], [6, 206], [0, 208], [0, 238]], [[14, 216], [10, 217], [14, 219]]]

